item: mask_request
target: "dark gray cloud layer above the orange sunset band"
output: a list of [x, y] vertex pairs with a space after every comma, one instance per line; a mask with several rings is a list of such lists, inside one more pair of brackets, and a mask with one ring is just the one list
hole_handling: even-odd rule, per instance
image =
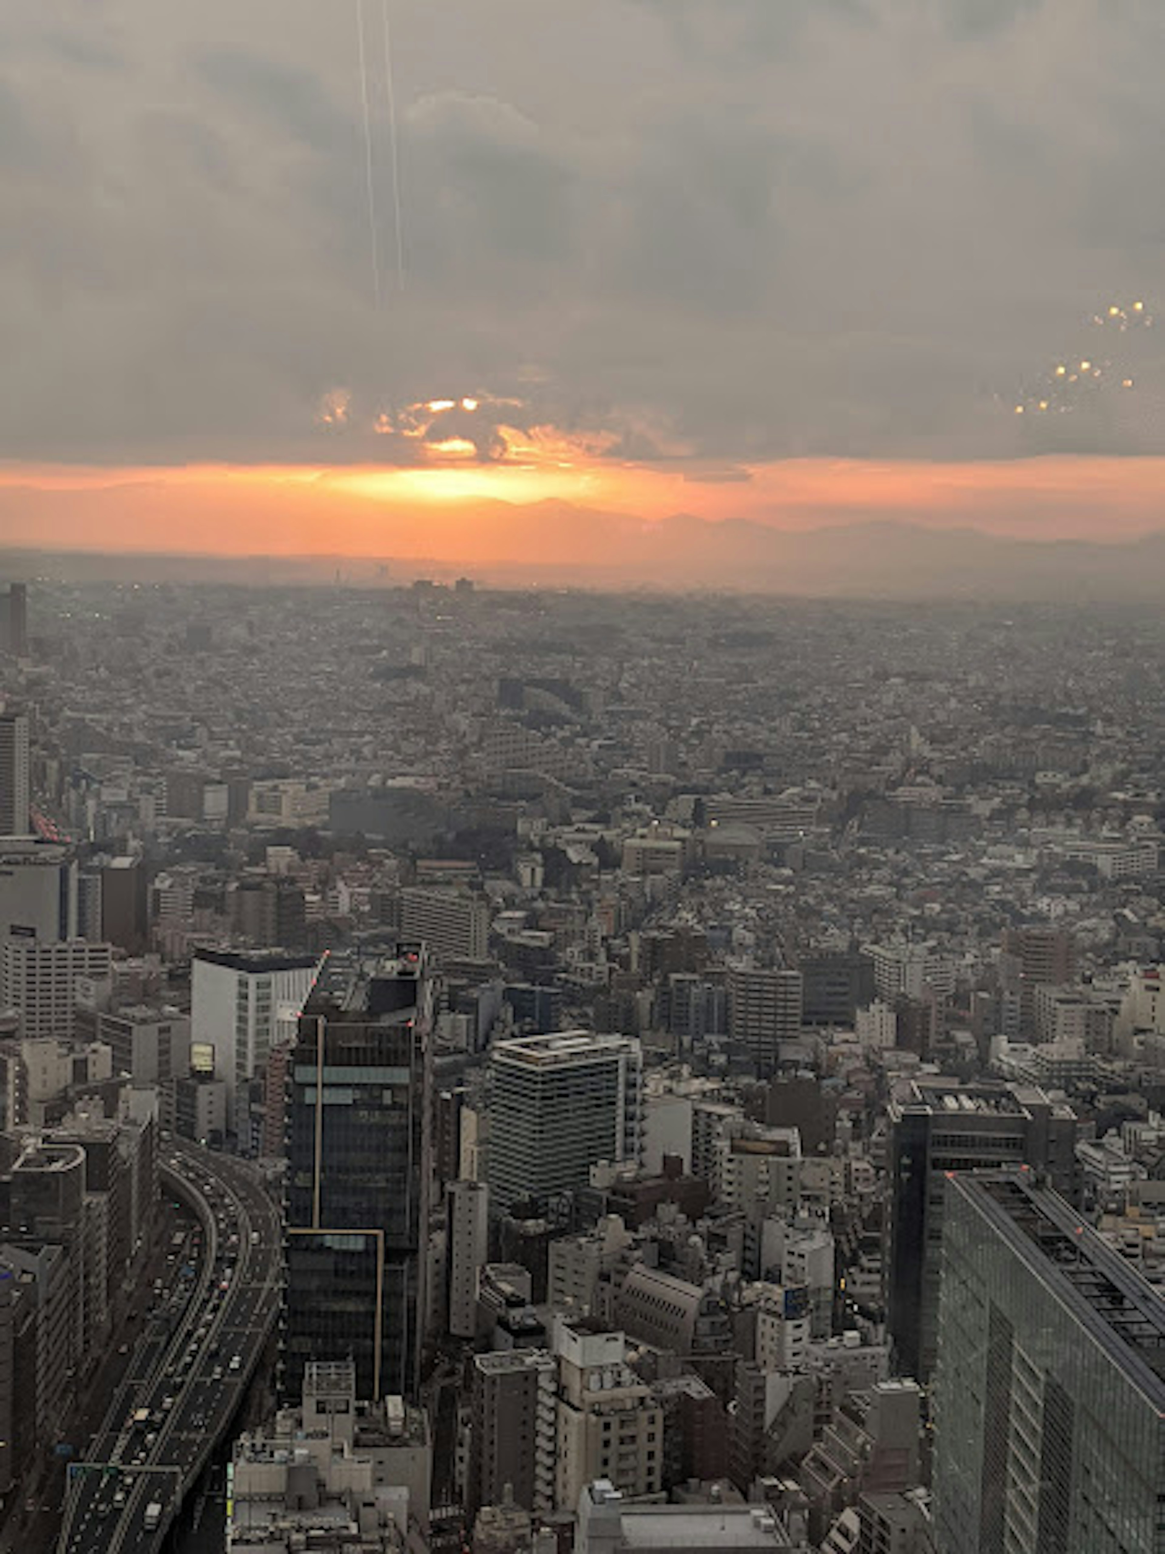
[[1156, 337], [1010, 415], [1165, 301], [1160, 0], [388, 0], [404, 287], [363, 9], [379, 311], [356, 0], [0, 16], [0, 457], [363, 457], [337, 385], [724, 466], [1165, 451]]

